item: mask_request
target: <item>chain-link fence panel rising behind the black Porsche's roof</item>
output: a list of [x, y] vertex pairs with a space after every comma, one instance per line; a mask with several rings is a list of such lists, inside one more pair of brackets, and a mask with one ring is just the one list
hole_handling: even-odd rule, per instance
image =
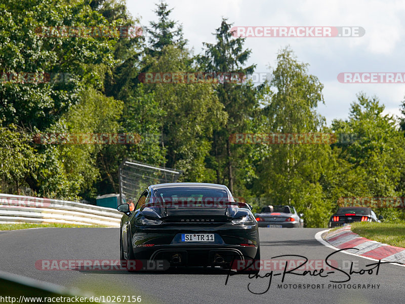
[[119, 199], [121, 204], [136, 204], [150, 185], [176, 183], [182, 171], [156, 167], [138, 161], [124, 160], [118, 169]]

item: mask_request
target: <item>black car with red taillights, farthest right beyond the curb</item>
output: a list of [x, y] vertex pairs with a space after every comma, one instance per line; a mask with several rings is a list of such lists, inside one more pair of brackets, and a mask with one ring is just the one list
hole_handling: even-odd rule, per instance
[[368, 207], [341, 207], [331, 216], [329, 220], [329, 228], [342, 226], [353, 222], [378, 222], [383, 220], [380, 215], [377, 218], [376, 213]]

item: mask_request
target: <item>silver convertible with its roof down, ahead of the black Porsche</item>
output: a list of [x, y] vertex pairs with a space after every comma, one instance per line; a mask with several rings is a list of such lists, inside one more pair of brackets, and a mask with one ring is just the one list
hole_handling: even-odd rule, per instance
[[298, 214], [293, 206], [267, 206], [260, 213], [255, 213], [259, 227], [269, 228], [303, 228], [302, 213]]

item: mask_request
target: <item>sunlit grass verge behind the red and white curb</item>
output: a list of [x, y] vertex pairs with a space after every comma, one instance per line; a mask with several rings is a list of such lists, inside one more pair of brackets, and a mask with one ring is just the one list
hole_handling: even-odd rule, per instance
[[356, 222], [351, 224], [351, 231], [373, 241], [405, 247], [405, 223]]

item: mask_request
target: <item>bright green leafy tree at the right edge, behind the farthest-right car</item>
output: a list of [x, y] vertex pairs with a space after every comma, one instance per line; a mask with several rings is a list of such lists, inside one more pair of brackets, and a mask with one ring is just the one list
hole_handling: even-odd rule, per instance
[[[405, 166], [403, 131], [398, 130], [392, 115], [383, 115], [384, 105], [377, 97], [364, 93], [352, 103], [349, 118], [334, 120], [337, 133], [353, 134], [350, 145], [335, 145], [339, 160], [338, 174], [331, 176], [332, 189], [341, 196], [403, 196], [402, 176]], [[405, 219], [403, 212], [381, 209], [388, 221]], [[402, 210], [403, 211], [403, 210]]]

